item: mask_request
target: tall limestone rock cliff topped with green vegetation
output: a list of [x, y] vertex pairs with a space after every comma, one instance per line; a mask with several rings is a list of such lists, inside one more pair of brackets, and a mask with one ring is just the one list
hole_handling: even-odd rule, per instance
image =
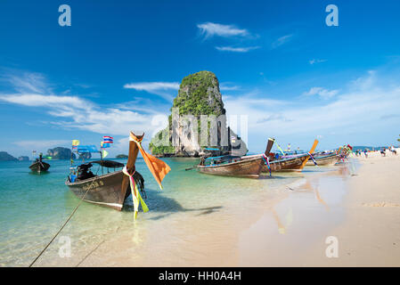
[[197, 157], [205, 148], [213, 147], [223, 154], [232, 151], [237, 155], [246, 154], [246, 144], [226, 126], [224, 115], [224, 102], [214, 73], [200, 71], [184, 77], [169, 116], [169, 126], [151, 139], [151, 153]]

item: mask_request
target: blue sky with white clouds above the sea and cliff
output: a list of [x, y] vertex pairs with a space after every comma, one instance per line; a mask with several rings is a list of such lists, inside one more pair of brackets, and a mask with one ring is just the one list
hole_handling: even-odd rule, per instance
[[[71, 26], [58, 24], [69, 4]], [[339, 26], [325, 7], [339, 8]], [[0, 3], [2, 150], [147, 139], [182, 78], [210, 70], [228, 115], [247, 115], [251, 152], [266, 138], [307, 149], [396, 142], [396, 1], [10, 1]], [[238, 130], [241, 133], [241, 130]], [[146, 145], [146, 143], [144, 143]]]

